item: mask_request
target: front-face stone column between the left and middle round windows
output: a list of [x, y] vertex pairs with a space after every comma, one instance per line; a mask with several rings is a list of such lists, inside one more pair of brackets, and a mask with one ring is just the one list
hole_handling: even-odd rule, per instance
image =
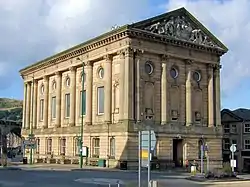
[[161, 124], [167, 124], [167, 56], [162, 56], [162, 74], [161, 74]]

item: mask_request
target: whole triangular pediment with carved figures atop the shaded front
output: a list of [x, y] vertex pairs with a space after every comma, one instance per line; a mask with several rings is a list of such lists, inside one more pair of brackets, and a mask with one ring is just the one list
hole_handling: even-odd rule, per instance
[[157, 17], [131, 25], [132, 28], [165, 37], [192, 42], [197, 45], [218, 48], [227, 52], [227, 47], [209, 32], [185, 8], [180, 8]]

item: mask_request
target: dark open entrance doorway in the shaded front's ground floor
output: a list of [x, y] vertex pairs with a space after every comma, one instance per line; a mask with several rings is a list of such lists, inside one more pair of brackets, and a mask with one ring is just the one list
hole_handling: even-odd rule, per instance
[[173, 139], [173, 161], [175, 167], [183, 167], [183, 139]]

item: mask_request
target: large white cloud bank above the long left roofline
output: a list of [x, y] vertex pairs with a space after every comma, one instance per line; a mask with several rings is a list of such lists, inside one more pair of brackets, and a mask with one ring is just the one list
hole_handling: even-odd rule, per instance
[[2, 85], [7, 79], [9, 86], [20, 81], [19, 69], [107, 32], [115, 24], [148, 16], [145, 13], [151, 8], [144, 0], [0, 1], [0, 90], [6, 88]]

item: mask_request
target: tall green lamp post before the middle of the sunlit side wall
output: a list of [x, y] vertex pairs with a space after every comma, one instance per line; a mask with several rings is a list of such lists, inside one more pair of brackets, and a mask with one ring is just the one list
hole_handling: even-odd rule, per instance
[[82, 62], [82, 111], [81, 111], [81, 129], [80, 129], [80, 168], [83, 167], [83, 106], [84, 106], [84, 62]]

